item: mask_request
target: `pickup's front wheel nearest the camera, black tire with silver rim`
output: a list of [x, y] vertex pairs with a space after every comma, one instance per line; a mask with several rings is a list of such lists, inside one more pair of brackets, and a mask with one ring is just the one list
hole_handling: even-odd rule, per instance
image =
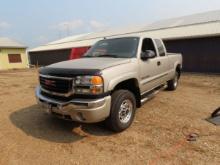
[[111, 112], [105, 123], [114, 132], [122, 132], [132, 124], [136, 100], [130, 91], [117, 90], [112, 94]]

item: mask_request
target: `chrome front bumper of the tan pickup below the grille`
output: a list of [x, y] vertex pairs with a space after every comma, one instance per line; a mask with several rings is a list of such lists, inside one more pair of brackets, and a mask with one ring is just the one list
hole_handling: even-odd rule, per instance
[[105, 120], [110, 114], [111, 96], [101, 99], [73, 99], [68, 102], [56, 100], [41, 94], [36, 88], [38, 104], [49, 114], [83, 123], [96, 123]]

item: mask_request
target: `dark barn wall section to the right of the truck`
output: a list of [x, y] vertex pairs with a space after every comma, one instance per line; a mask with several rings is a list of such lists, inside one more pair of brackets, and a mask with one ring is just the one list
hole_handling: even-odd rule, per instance
[[220, 37], [164, 42], [168, 52], [182, 53], [184, 71], [220, 73]]

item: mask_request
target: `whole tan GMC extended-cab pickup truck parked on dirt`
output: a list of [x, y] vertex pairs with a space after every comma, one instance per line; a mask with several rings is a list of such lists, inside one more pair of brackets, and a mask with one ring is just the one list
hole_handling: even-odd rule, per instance
[[40, 68], [36, 97], [50, 114], [104, 121], [121, 132], [131, 125], [136, 108], [161, 89], [177, 88], [181, 68], [181, 54], [167, 53], [161, 39], [105, 38], [81, 59]]

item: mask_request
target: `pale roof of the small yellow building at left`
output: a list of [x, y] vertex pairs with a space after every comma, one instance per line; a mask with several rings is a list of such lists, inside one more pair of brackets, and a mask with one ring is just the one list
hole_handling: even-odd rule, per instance
[[27, 48], [27, 46], [10, 38], [0, 37], [0, 48]]

